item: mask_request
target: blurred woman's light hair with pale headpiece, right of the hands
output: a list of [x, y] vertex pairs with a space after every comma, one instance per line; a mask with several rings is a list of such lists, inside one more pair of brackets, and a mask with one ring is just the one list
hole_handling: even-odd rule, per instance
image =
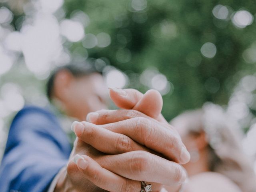
[[256, 191], [256, 175], [252, 161], [243, 152], [242, 133], [236, 121], [229, 119], [220, 106], [206, 103], [202, 109], [180, 114], [174, 118], [174, 124], [176, 120], [187, 122], [189, 134], [205, 132], [211, 171], [223, 174], [243, 192]]

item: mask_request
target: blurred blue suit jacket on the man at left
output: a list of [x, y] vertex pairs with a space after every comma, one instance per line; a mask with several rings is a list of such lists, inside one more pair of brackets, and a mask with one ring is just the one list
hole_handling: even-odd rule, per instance
[[0, 166], [0, 192], [45, 192], [70, 155], [54, 114], [35, 106], [14, 117]]

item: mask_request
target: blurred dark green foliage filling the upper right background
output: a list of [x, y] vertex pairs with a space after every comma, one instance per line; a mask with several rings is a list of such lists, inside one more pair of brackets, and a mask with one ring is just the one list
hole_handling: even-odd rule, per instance
[[[164, 96], [163, 114], [170, 120], [183, 110], [198, 108], [206, 101], [227, 104], [238, 80], [256, 71], [255, 64], [248, 64], [242, 58], [244, 50], [256, 40], [255, 22], [238, 29], [230, 19], [219, 20], [213, 16], [212, 10], [217, 4], [228, 6], [231, 12], [241, 8], [252, 14], [256, 12], [252, 0], [148, 0], [147, 8], [139, 12], [131, 11], [131, 0], [66, 0], [64, 8], [67, 17], [73, 10], [88, 14], [90, 25], [86, 33], [110, 34], [111, 45], [92, 48], [88, 50], [89, 56], [108, 58], [111, 65], [133, 79], [130, 87], [146, 91], [147, 88], [138, 83], [136, 74], [150, 66], [166, 75], [174, 85], [174, 92]], [[134, 19], [144, 17], [147, 19], [142, 23]], [[118, 41], [120, 34], [127, 42]], [[214, 58], [205, 58], [200, 53], [206, 42], [216, 45]], [[79, 46], [82, 44], [73, 44], [70, 50]], [[130, 50], [129, 62], [117, 61], [116, 53], [120, 48]], [[218, 87], [218, 82], [207, 82], [209, 78], [219, 81], [217, 92], [208, 91]]]

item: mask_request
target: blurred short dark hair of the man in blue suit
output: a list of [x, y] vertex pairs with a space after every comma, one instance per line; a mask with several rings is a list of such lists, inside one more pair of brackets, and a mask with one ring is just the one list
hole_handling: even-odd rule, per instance
[[77, 64], [67, 64], [64, 66], [60, 66], [56, 68], [51, 74], [50, 77], [46, 83], [46, 95], [49, 100], [51, 100], [53, 96], [53, 89], [54, 89], [54, 80], [58, 72], [62, 70], [68, 70], [74, 77], [81, 77], [81, 76], [87, 76], [92, 73], [100, 73], [96, 70], [96, 68], [90, 64], [86, 63], [77, 63]]

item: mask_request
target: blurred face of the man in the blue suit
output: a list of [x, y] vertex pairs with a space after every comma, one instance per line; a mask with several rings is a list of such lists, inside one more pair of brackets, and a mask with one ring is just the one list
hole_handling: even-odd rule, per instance
[[83, 121], [89, 112], [107, 108], [108, 88], [98, 73], [72, 78], [68, 89], [64, 105], [69, 116]]

